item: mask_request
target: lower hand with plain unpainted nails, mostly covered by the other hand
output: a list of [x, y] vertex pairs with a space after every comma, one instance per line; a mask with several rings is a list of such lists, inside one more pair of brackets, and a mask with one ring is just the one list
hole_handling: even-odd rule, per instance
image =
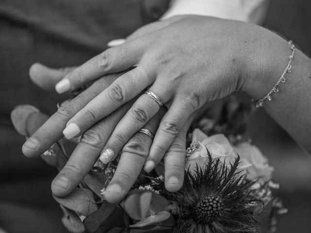
[[[45, 89], [50, 89], [51, 84], [55, 84], [64, 76], [71, 68], [66, 69], [50, 69], [40, 64], [35, 64], [30, 69], [32, 80]], [[101, 78], [91, 85], [86, 91], [78, 97], [62, 106], [57, 113], [48, 119], [42, 127], [40, 127], [29, 139], [34, 140], [36, 148], [32, 149], [27, 146], [23, 147], [23, 151], [30, 157], [34, 157], [47, 150], [54, 142], [62, 138], [62, 130], [65, 128], [67, 120], [74, 115], [79, 109], [86, 104], [87, 101], [96, 95], [99, 88], [107, 85], [107, 79], [115, 79], [117, 75], [110, 75]], [[46, 79], [42, 81], [42, 78]], [[112, 82], [112, 81], [110, 81]], [[43, 84], [42, 84], [43, 83]], [[49, 83], [49, 84], [46, 84]], [[97, 84], [97, 85], [96, 85]], [[106, 138], [110, 135], [128, 108], [131, 102], [115, 111], [113, 114], [105, 117], [96, 125], [91, 127], [81, 137], [80, 143], [72, 152], [67, 165], [59, 172], [58, 176], [52, 183], [52, 192], [57, 196], [65, 196], [81, 182], [86, 173], [92, 168], [99, 157], [99, 153], [104, 147]], [[143, 128], [155, 132], [164, 114], [162, 109], [155, 117], [153, 117]], [[165, 177], [167, 177], [166, 187], [171, 191], [178, 190], [183, 181], [184, 165], [185, 165], [185, 140], [189, 124], [178, 134], [170, 151], [166, 154]], [[47, 133], [49, 132], [49, 133]], [[142, 143], [143, 142], [143, 143]], [[124, 146], [121, 153], [121, 160], [117, 171], [106, 189], [105, 198], [108, 201], [119, 202], [126, 195], [138, 174], [144, 165], [145, 158], [148, 155], [152, 140], [143, 133], [136, 133], [124, 146], [119, 144], [120, 150]], [[174, 177], [173, 180], [170, 179]], [[176, 177], [178, 182], [176, 183]], [[172, 183], [170, 183], [170, 180]], [[59, 182], [60, 181], [60, 182]], [[121, 192], [117, 192], [121, 190]]]

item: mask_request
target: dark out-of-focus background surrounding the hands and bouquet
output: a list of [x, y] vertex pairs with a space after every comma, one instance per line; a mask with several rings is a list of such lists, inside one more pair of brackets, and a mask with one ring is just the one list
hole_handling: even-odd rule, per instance
[[[108, 41], [158, 19], [166, 8], [166, 0], [106, 0], [105, 5], [98, 0], [0, 0], [0, 228], [9, 233], [67, 232], [51, 196], [56, 169], [23, 156], [24, 138], [10, 121], [18, 104], [29, 103], [52, 114], [56, 103], [66, 98], [31, 83], [29, 67], [34, 62], [79, 65], [106, 49]], [[264, 27], [310, 54], [310, 11], [309, 0], [272, 0]], [[310, 233], [311, 155], [263, 110], [252, 118], [249, 133], [275, 167], [278, 195], [289, 209], [278, 218], [277, 233]]]

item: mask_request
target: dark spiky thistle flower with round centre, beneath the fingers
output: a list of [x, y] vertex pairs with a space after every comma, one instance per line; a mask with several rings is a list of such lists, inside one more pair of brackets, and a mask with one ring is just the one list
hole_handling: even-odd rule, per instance
[[166, 191], [164, 182], [153, 182], [154, 189], [170, 202], [177, 203], [179, 211], [173, 214], [174, 233], [254, 233], [258, 224], [257, 212], [251, 195], [253, 182], [246, 181], [237, 171], [238, 157], [226, 166], [219, 159], [209, 161], [205, 169], [185, 171], [183, 187], [175, 193]]

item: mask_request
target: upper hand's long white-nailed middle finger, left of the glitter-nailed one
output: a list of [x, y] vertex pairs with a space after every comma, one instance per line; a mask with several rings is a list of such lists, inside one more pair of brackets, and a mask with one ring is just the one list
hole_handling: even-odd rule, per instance
[[137, 67], [119, 77], [69, 120], [63, 131], [65, 137], [70, 139], [85, 132], [97, 121], [136, 97], [154, 80], [151, 76], [147, 77], [146, 73]]

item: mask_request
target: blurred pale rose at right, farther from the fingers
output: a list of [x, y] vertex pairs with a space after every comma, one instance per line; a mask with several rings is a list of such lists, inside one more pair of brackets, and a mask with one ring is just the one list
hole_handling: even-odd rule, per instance
[[273, 167], [268, 165], [268, 159], [263, 156], [261, 151], [250, 143], [243, 142], [238, 144], [234, 150], [242, 159], [249, 161], [252, 166], [246, 168], [246, 178], [249, 180], [270, 180]]

